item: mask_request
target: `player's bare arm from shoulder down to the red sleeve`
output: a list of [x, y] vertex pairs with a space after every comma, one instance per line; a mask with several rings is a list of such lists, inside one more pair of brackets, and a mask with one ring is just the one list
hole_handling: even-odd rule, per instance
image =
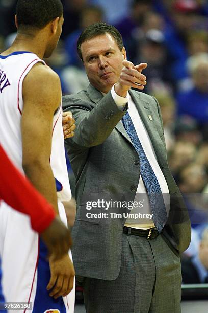
[[58, 75], [41, 63], [34, 65], [23, 81], [22, 96], [22, 167], [58, 213], [55, 178], [49, 162], [53, 118], [61, 103]]

